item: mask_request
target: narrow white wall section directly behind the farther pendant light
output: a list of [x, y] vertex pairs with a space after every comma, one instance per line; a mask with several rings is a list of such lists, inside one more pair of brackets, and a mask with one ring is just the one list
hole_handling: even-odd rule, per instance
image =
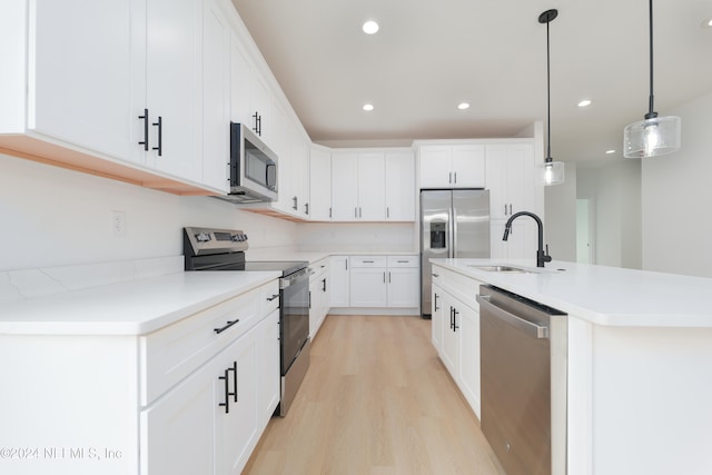
[[544, 187], [544, 240], [555, 260], [576, 260], [576, 164], [567, 162], [564, 182]]

